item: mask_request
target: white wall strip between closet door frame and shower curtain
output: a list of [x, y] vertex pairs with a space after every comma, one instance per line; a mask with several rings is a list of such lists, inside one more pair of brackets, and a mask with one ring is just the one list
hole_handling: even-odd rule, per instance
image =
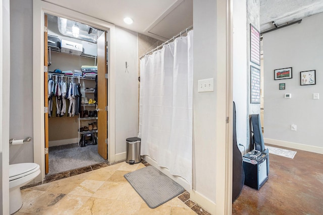
[[126, 138], [138, 135], [137, 44], [138, 33], [116, 27], [116, 161], [126, 159]]

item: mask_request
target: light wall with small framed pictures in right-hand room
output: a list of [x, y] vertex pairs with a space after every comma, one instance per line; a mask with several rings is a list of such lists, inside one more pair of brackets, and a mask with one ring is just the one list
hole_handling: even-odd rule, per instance
[[[323, 153], [323, 13], [263, 35], [265, 142]], [[274, 81], [274, 69], [293, 67], [293, 78]], [[316, 70], [316, 85], [300, 86], [300, 71]], [[279, 90], [286, 83], [286, 90]], [[284, 94], [291, 93], [291, 99]], [[313, 100], [313, 93], [320, 93]], [[297, 125], [297, 131], [291, 130]]]

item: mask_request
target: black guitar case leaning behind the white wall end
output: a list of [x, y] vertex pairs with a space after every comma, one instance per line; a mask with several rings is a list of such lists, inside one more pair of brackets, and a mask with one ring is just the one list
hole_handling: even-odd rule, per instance
[[236, 105], [233, 102], [233, 155], [232, 155], [232, 203], [238, 198], [244, 184], [242, 156], [237, 145]]

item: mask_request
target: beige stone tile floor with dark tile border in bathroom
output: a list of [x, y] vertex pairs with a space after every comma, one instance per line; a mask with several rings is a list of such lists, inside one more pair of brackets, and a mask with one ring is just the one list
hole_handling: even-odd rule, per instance
[[209, 214], [189, 199], [188, 192], [149, 208], [124, 178], [124, 174], [149, 165], [143, 163], [99, 164], [79, 170], [84, 172], [81, 174], [68, 171], [46, 178], [43, 184], [25, 186], [21, 190], [23, 206], [15, 215]]

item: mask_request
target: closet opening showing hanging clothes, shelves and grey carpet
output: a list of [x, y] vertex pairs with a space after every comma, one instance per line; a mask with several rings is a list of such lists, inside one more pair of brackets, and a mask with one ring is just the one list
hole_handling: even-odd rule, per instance
[[49, 14], [44, 24], [45, 173], [104, 162], [109, 32]]

